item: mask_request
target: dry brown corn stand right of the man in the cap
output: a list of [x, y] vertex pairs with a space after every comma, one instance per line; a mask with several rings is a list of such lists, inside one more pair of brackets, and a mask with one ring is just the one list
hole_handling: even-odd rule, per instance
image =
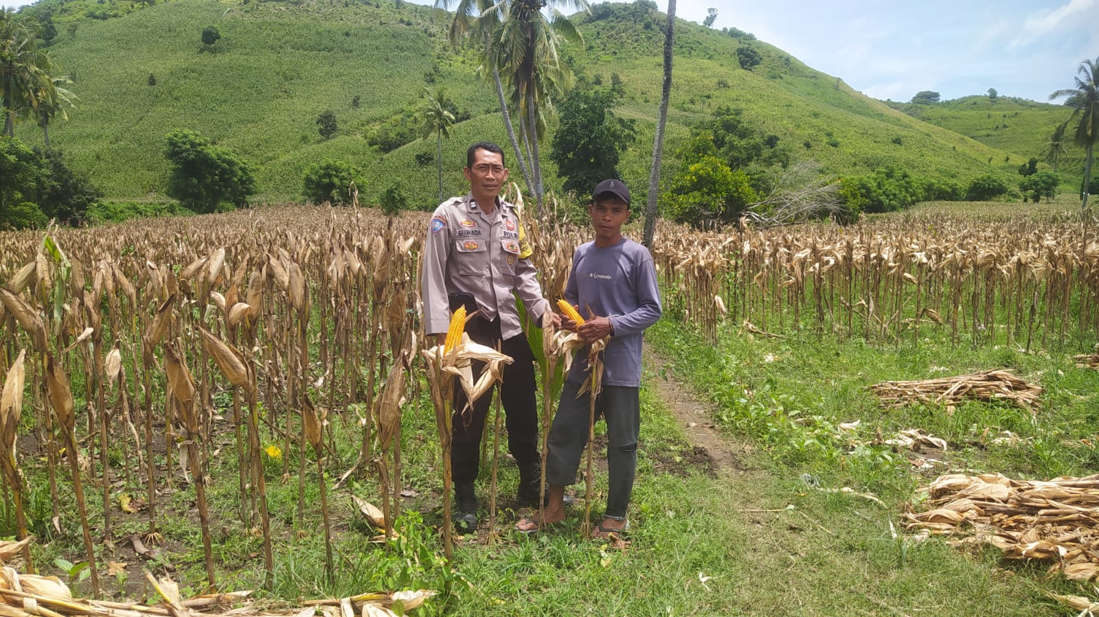
[[1099, 337], [1099, 242], [1079, 218], [660, 232], [653, 258], [668, 303], [711, 338], [722, 317], [753, 334], [874, 344], [937, 330], [1030, 351]]

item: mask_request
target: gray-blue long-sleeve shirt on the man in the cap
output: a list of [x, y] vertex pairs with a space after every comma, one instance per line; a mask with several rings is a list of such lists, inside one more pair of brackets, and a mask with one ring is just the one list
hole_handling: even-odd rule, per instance
[[[660, 290], [648, 249], [622, 238], [614, 246], [586, 243], [573, 255], [573, 271], [565, 300], [588, 307], [597, 316], [610, 317], [614, 336], [603, 351], [604, 385], [641, 385], [641, 336], [660, 318]], [[587, 355], [579, 351], [569, 370], [570, 381], [587, 378]]]

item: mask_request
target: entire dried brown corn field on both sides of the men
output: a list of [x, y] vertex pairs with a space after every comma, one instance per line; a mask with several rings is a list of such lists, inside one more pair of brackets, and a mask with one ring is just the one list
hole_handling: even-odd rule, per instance
[[[425, 225], [426, 214], [276, 207], [0, 235], [0, 467], [9, 528], [27, 535], [16, 446], [26, 434], [43, 450], [54, 520], [74, 512], [80, 518], [96, 594], [91, 517], [111, 540], [121, 507], [111, 486], [120, 476], [146, 491], [144, 537], [152, 542], [165, 495], [193, 489], [210, 585], [211, 483], [235, 484], [237, 523], [263, 537], [271, 583], [263, 463], [271, 448], [282, 452], [282, 481], [298, 483], [299, 534], [320, 518], [330, 537], [326, 474], [338, 478], [336, 485], [354, 474], [375, 483], [382, 503], [376, 518], [388, 534], [401, 508], [400, 420], [411, 407], [404, 401], [420, 400], [424, 383], [437, 386], [425, 378], [420, 352]], [[590, 233], [529, 225], [544, 294], [556, 301], [573, 249]], [[919, 341], [937, 330], [974, 346], [1090, 347], [1099, 335], [1099, 244], [1072, 220], [923, 216], [846, 228], [742, 224], [720, 233], [662, 224], [652, 253], [665, 304], [713, 339], [722, 319], [761, 335], [875, 344]], [[231, 416], [221, 419], [215, 397], [226, 396]], [[357, 417], [359, 408], [369, 417]], [[335, 425], [362, 433], [356, 460], [331, 456]], [[214, 448], [225, 433], [232, 447]], [[118, 450], [122, 464], [111, 461]], [[298, 469], [290, 469], [290, 453]], [[156, 464], [158, 455], [166, 464]], [[211, 478], [214, 456], [235, 457], [238, 475]], [[318, 479], [321, 503], [307, 504], [306, 482]], [[69, 494], [63, 483], [75, 504], [60, 498]], [[102, 495], [101, 511], [87, 508], [86, 491]], [[29, 552], [24, 559], [33, 569]]]

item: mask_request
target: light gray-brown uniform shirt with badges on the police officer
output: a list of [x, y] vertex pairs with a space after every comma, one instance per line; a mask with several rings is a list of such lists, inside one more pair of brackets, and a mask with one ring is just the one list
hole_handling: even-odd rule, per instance
[[453, 198], [435, 209], [424, 242], [420, 288], [426, 334], [447, 330], [448, 293], [469, 293], [482, 317], [499, 316], [503, 338], [523, 332], [512, 292], [532, 318], [548, 308], [534, 266], [519, 258], [519, 225], [515, 206], [500, 199], [492, 214], [486, 214], [471, 195]]

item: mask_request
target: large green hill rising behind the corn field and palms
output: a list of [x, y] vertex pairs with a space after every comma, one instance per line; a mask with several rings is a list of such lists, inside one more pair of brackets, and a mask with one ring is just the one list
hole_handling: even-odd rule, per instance
[[[110, 19], [86, 15], [96, 10], [89, 8], [114, 7], [114, 0], [36, 5], [56, 7], [59, 34], [51, 49], [80, 98], [68, 122], [51, 125], [52, 143], [111, 198], [158, 197], [168, 172], [164, 135], [178, 127], [198, 131], [253, 162], [259, 201], [297, 199], [306, 166], [342, 158], [365, 170], [368, 200], [399, 182], [413, 205], [429, 207], [435, 165], [417, 155], [433, 157], [434, 141], [384, 154], [367, 138], [414, 109], [425, 88], [441, 86], [469, 115], [444, 141], [448, 192], [463, 190], [466, 145], [506, 143], [495, 92], [476, 75], [477, 60], [451, 51], [447, 16], [426, 7], [400, 0], [176, 0], [141, 10], [122, 4], [126, 10]], [[618, 113], [637, 120], [639, 137], [621, 169], [623, 179], [643, 186], [659, 102], [665, 18], [639, 2], [600, 5], [575, 19], [585, 48], [568, 46], [566, 56], [580, 79], [607, 87], [617, 75], [622, 83]], [[222, 38], [206, 49], [200, 34], [211, 24]], [[1013, 173], [1023, 158], [890, 109], [745, 33], [732, 36], [684, 21], [676, 27], [669, 152], [690, 125], [729, 105], [777, 135], [796, 158], [812, 158], [830, 173], [896, 165], [923, 177], [966, 181], [990, 168]], [[761, 63], [742, 69], [740, 47], [755, 49]], [[334, 111], [340, 125], [328, 141], [315, 124], [324, 110]], [[1045, 132], [1045, 123], [1035, 131]], [[40, 133], [27, 123], [16, 126], [16, 136], [32, 143], [41, 142]], [[546, 157], [543, 167], [547, 186], [559, 187]], [[669, 160], [667, 169], [675, 167]]]

